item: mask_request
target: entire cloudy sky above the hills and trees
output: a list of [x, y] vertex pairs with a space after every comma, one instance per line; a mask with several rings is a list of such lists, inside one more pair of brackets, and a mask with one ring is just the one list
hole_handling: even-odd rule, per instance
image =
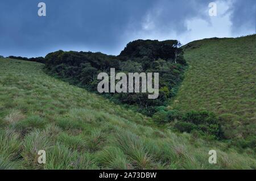
[[[39, 2], [46, 16], [39, 16]], [[210, 16], [209, 3], [216, 5]], [[0, 55], [56, 50], [117, 55], [137, 39], [179, 40], [255, 33], [255, 0], [1, 0]], [[211, 11], [212, 12], [212, 11]], [[214, 11], [215, 12], [215, 11]]]

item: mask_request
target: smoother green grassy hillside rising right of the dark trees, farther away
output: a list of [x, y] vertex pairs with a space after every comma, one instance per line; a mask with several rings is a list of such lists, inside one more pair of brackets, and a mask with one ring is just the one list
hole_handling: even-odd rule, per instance
[[226, 137], [255, 142], [255, 40], [255, 35], [251, 35], [204, 39], [185, 45], [189, 68], [173, 107], [216, 112], [222, 117]]

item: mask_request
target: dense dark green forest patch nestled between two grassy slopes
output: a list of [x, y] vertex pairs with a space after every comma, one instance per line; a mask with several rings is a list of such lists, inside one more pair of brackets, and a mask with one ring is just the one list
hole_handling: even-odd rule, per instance
[[146, 93], [103, 94], [152, 116], [159, 106], [167, 106], [183, 78], [186, 62], [179, 47], [177, 40], [136, 40], [127, 44], [118, 56], [59, 50], [47, 54], [44, 61], [49, 73], [90, 91], [97, 91], [98, 73], [110, 74], [110, 68], [115, 68], [115, 73], [159, 73], [158, 99], [148, 99]]

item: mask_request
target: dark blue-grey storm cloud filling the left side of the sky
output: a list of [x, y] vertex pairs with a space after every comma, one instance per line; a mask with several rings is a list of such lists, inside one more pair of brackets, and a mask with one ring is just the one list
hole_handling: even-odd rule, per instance
[[133, 3], [44, 0], [47, 16], [39, 17], [39, 2], [0, 2], [0, 53], [29, 56], [55, 47], [88, 47], [88, 50], [111, 52], [126, 23], [133, 17], [143, 16], [152, 6], [146, 0]]

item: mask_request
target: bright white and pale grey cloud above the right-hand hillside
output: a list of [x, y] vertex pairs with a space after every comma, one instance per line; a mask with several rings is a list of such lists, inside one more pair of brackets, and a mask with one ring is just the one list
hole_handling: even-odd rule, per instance
[[[209, 16], [208, 5], [210, 2], [183, 1], [183, 3], [176, 2], [176, 6], [171, 6], [164, 0], [160, 1], [144, 16], [139, 30], [134, 28], [133, 31], [131, 28], [127, 28], [126, 34], [132, 36], [126, 37], [130, 41], [133, 39], [177, 39], [182, 44], [186, 44], [193, 40], [209, 37], [236, 37], [254, 33], [251, 23], [234, 21], [234, 17], [240, 16], [237, 13], [240, 0], [214, 1], [217, 5], [217, 16]], [[249, 6], [242, 6], [243, 9], [247, 9], [247, 7]], [[252, 7], [249, 10], [253, 9]], [[179, 18], [176, 18], [177, 16]], [[244, 16], [249, 18], [247, 15]], [[253, 18], [249, 19], [249, 22], [253, 20]], [[239, 28], [237, 29], [237, 27], [249, 25], [251, 29], [241, 28], [241, 31], [238, 31]]]

